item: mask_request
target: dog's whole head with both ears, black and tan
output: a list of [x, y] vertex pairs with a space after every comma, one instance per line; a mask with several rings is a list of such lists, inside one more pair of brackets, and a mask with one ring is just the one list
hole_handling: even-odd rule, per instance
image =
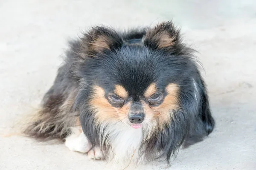
[[180, 108], [180, 94], [195, 70], [187, 57], [167, 52], [177, 34], [159, 27], [132, 42], [103, 28], [87, 35], [84, 46], [90, 57], [80, 74], [98, 123], [161, 128]]

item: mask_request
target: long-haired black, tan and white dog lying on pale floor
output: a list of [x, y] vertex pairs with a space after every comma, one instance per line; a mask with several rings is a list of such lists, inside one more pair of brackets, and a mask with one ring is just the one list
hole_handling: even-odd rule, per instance
[[114, 162], [170, 162], [215, 121], [195, 50], [172, 21], [118, 32], [94, 26], [69, 42], [64, 64], [23, 131]]

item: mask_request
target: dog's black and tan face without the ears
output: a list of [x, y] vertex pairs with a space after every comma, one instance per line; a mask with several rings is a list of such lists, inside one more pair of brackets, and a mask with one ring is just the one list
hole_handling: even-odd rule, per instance
[[[95, 68], [90, 105], [100, 122], [121, 121], [139, 128], [170, 121], [178, 108], [179, 85], [165, 62], [143, 46], [123, 46], [116, 54], [102, 56]], [[170, 64], [170, 63], [169, 63]]]

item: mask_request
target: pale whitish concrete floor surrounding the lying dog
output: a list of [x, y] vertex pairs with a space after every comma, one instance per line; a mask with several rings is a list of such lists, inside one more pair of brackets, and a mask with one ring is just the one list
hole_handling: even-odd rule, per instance
[[[200, 52], [217, 126], [167, 169], [256, 170], [256, 1], [240, 1], [0, 0], [0, 133], [37, 107], [69, 37], [97, 23], [127, 28], [173, 19]], [[64, 144], [19, 136], [0, 137], [0, 153], [0, 170], [106, 169]]]

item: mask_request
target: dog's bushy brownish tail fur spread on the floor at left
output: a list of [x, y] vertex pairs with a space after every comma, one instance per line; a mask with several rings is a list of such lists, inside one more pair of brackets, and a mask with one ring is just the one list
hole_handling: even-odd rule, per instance
[[64, 139], [70, 127], [79, 125], [79, 114], [73, 111], [75, 95], [72, 88], [66, 93], [47, 93], [42, 107], [23, 119], [22, 133], [39, 140]]

